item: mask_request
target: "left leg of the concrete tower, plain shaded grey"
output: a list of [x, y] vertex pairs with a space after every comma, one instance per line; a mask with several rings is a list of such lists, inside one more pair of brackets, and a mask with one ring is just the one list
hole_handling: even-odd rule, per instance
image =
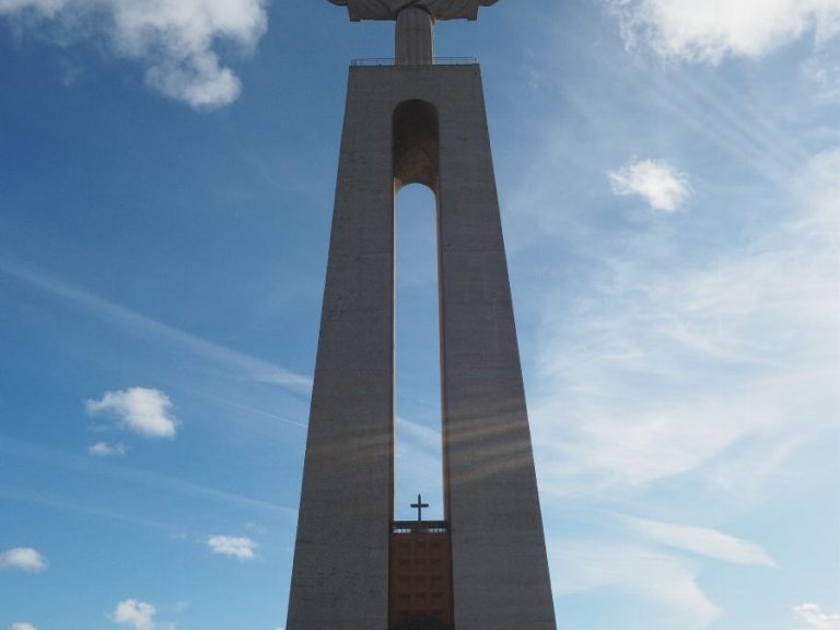
[[382, 98], [351, 73], [289, 630], [385, 630], [388, 622], [394, 180]]

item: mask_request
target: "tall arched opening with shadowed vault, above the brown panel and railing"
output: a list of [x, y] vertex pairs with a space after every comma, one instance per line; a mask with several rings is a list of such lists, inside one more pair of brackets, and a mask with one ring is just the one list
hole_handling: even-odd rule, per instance
[[395, 500], [396, 521], [444, 518], [438, 254], [440, 172], [436, 108], [406, 101], [394, 110]]

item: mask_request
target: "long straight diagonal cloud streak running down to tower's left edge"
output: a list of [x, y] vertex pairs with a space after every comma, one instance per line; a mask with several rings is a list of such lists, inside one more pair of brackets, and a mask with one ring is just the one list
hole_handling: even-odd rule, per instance
[[253, 381], [281, 385], [303, 394], [307, 394], [312, 388], [312, 378], [308, 376], [296, 374], [269, 361], [231, 350], [190, 332], [156, 322], [94, 293], [62, 282], [28, 265], [3, 256], [2, 253], [0, 253], [0, 272], [49, 295], [67, 300], [105, 322], [131, 330], [132, 334], [140, 334], [149, 339], [176, 346], [183, 351], [222, 365], [230, 371], [244, 374], [245, 377]]

